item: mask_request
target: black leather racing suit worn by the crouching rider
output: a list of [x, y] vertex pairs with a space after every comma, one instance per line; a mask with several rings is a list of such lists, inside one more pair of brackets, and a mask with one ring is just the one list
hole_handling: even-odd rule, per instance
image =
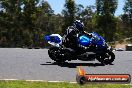
[[71, 49], [74, 49], [74, 50], [84, 49], [83, 46], [78, 44], [78, 36], [77, 35], [80, 35], [80, 34], [85, 34], [89, 38], [92, 37], [92, 35], [90, 33], [86, 33], [84, 31], [79, 31], [75, 27], [70, 26], [66, 29], [66, 31], [64, 33], [64, 36], [63, 36], [63, 39], [62, 39], [62, 44], [66, 48], [71, 48]]

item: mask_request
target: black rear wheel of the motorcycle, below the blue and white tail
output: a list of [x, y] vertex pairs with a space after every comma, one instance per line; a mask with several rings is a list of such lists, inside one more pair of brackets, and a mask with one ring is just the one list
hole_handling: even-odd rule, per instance
[[52, 47], [48, 50], [49, 57], [57, 63], [63, 63], [66, 61], [63, 52], [58, 47]]

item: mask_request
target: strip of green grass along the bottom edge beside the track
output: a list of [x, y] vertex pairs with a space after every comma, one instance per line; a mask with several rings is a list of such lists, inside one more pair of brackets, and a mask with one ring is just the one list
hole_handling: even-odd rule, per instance
[[0, 88], [132, 88], [132, 85], [122, 84], [71, 84], [27, 81], [0, 81]]

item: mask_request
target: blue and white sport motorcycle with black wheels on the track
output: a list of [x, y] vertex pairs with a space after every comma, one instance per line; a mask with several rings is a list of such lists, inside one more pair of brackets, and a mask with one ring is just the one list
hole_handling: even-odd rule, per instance
[[45, 36], [45, 40], [52, 45], [48, 50], [49, 57], [57, 63], [64, 63], [66, 60], [94, 61], [98, 60], [103, 65], [112, 64], [115, 54], [112, 52], [104, 38], [97, 33], [77, 34], [77, 49], [65, 47], [63, 37], [59, 34]]

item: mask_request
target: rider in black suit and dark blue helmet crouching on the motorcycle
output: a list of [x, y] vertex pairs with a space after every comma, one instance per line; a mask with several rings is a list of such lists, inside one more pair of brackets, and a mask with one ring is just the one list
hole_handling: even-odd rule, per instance
[[69, 26], [63, 36], [62, 43], [67, 48], [78, 49], [77, 38], [79, 34], [88, 34], [84, 31], [84, 23], [80, 20], [75, 20], [72, 26]]

